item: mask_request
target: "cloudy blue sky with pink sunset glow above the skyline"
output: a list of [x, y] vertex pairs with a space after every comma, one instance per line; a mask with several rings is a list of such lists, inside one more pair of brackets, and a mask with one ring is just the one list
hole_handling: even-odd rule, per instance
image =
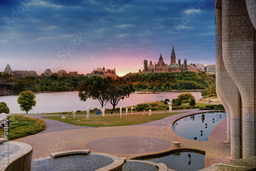
[[0, 71], [118, 75], [143, 60], [215, 64], [214, 0], [0, 0]]

